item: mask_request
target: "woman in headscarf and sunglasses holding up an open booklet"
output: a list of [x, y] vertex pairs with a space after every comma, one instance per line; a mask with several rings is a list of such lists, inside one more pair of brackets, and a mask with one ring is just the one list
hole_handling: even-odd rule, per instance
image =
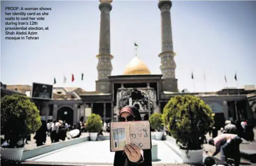
[[[139, 110], [124, 106], [119, 112], [119, 122], [141, 121]], [[125, 145], [124, 151], [116, 151], [114, 166], [152, 166], [151, 149], [141, 150], [134, 144]]]

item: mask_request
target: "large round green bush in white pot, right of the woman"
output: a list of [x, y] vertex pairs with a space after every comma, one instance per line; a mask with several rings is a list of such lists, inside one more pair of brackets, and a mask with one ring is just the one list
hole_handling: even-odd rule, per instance
[[165, 105], [163, 123], [176, 139], [183, 162], [202, 162], [205, 134], [214, 123], [211, 114], [211, 108], [193, 95], [172, 97]]

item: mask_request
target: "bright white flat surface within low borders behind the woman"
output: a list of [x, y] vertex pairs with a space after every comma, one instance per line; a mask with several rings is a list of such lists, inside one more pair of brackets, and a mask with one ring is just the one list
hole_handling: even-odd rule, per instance
[[[182, 163], [182, 159], [163, 141], [158, 144], [158, 161], [153, 163]], [[88, 141], [58, 149], [28, 160], [45, 162], [94, 162], [113, 164], [114, 152], [109, 151], [109, 140]]]

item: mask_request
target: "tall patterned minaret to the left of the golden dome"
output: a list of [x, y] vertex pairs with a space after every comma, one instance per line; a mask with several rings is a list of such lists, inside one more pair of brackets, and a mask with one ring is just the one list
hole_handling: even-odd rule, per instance
[[101, 11], [100, 20], [100, 45], [99, 54], [96, 56], [99, 61], [97, 65], [98, 81], [96, 81], [96, 91], [108, 93], [110, 83], [108, 75], [111, 75], [113, 56], [110, 54], [110, 11], [112, 1], [100, 1], [99, 9]]

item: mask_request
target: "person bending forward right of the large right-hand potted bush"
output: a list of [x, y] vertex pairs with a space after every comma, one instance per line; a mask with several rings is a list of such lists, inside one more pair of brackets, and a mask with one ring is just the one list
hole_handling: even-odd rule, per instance
[[233, 158], [235, 160], [235, 166], [239, 166], [240, 163], [239, 145], [241, 142], [241, 138], [235, 134], [221, 134], [208, 140], [208, 144], [216, 146], [216, 151], [212, 156], [221, 152], [221, 159], [227, 161], [228, 158]]

